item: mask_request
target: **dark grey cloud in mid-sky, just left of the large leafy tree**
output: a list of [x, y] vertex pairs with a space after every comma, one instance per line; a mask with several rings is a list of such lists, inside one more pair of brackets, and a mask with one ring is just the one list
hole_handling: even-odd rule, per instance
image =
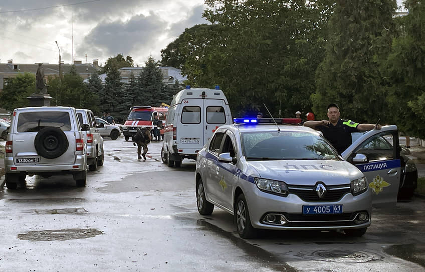
[[[166, 22], [154, 14], [133, 16], [129, 21], [101, 22], [77, 48], [80, 55], [131, 55], [133, 50], [148, 48], [166, 27]], [[102, 53], [103, 52], [103, 53]]]

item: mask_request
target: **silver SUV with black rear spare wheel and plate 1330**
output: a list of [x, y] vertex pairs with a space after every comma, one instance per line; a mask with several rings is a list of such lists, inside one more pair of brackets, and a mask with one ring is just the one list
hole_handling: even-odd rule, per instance
[[72, 174], [86, 185], [87, 155], [83, 132], [73, 107], [16, 108], [6, 141], [8, 189], [26, 185], [27, 174], [49, 177]]

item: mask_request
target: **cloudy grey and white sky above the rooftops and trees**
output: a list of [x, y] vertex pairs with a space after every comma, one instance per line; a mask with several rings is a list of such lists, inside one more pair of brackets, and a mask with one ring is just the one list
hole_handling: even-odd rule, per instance
[[[185, 28], [207, 23], [203, 0], [0, 0], [0, 62], [83, 63], [122, 53], [144, 65]], [[72, 42], [74, 40], [74, 42]], [[74, 46], [73, 46], [74, 44]], [[86, 58], [87, 55], [87, 58]]]

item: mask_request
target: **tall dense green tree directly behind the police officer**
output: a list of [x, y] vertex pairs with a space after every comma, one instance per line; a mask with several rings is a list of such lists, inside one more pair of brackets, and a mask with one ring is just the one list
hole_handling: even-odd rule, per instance
[[395, 1], [337, 0], [329, 20], [326, 55], [316, 71], [313, 109], [325, 117], [326, 105], [338, 103], [341, 117], [360, 122], [384, 118], [385, 88], [379, 63], [388, 54], [396, 27]]

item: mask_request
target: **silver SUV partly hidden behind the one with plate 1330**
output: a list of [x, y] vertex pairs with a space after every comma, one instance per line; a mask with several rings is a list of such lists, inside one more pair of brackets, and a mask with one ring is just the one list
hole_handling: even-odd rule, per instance
[[[84, 134], [84, 142], [87, 145], [87, 164], [90, 171], [95, 171], [97, 166], [103, 165], [103, 138], [96, 126], [93, 111], [85, 108], [76, 110]], [[87, 124], [88, 127], [84, 124]]]

